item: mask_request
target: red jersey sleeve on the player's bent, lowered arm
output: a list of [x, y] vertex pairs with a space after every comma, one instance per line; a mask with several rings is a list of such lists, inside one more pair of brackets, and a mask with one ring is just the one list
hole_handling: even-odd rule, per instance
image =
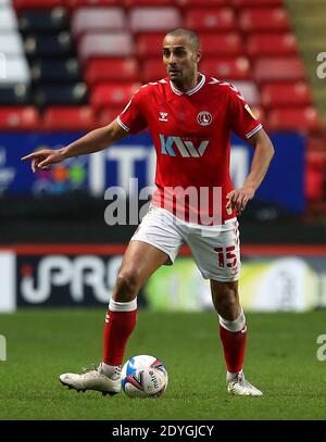
[[250, 138], [263, 127], [234, 85], [229, 85], [229, 117], [230, 128], [243, 139]]

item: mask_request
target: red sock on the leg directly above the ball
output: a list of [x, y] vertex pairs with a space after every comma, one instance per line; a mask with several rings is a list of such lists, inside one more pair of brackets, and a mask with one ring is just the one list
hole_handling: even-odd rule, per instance
[[137, 320], [137, 310], [131, 312], [108, 311], [104, 325], [103, 363], [122, 365], [126, 344]]

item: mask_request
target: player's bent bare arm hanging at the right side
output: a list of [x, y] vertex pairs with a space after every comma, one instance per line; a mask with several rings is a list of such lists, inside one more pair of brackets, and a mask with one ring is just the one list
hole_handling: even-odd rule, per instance
[[274, 156], [273, 143], [264, 129], [250, 137], [248, 142], [254, 148], [250, 173], [241, 189], [233, 190], [227, 194], [228, 203], [226, 207], [235, 207], [238, 214], [246, 209], [248, 201], [254, 197]]

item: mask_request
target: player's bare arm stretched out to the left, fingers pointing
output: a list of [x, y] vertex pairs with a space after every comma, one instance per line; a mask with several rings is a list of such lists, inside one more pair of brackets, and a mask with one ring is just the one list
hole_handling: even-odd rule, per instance
[[22, 160], [32, 160], [32, 169], [48, 169], [52, 164], [60, 163], [71, 156], [99, 152], [115, 141], [128, 135], [116, 119], [108, 126], [91, 130], [84, 137], [61, 149], [41, 149], [23, 156]]

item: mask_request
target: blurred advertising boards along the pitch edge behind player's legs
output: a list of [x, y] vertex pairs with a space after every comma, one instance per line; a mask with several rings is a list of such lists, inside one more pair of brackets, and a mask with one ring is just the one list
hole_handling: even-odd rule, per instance
[[[124, 244], [16, 244], [0, 249], [0, 312], [26, 307], [105, 306]], [[240, 296], [248, 312], [326, 307], [325, 245], [243, 245]], [[212, 308], [209, 281], [184, 247], [141, 289], [140, 307]]]

